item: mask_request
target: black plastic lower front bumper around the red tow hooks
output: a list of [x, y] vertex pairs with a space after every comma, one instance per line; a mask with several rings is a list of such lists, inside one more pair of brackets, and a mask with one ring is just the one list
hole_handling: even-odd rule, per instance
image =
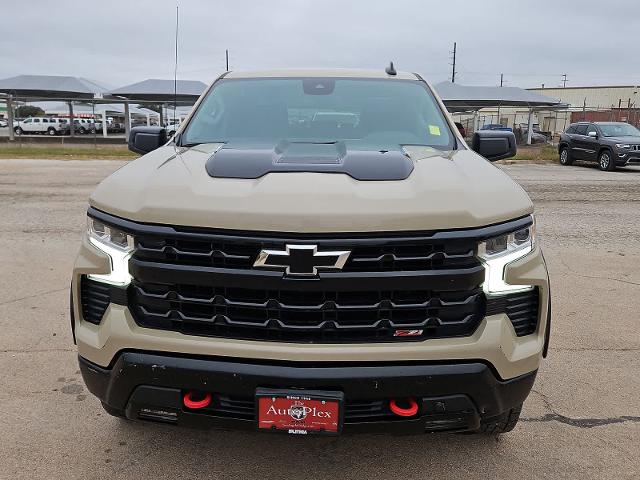
[[[82, 357], [79, 362], [88, 389], [130, 419], [256, 429], [258, 388], [340, 391], [345, 433], [476, 430], [522, 403], [536, 376], [503, 381], [480, 362], [310, 366], [141, 352], [122, 352], [108, 369]], [[182, 397], [190, 390], [210, 392], [214, 401], [189, 410]], [[395, 416], [389, 401], [408, 397], [417, 400], [418, 414]]]

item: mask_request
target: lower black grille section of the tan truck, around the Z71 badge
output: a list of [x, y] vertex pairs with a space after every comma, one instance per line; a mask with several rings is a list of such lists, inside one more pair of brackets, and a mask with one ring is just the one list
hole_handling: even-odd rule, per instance
[[391, 341], [470, 335], [484, 315], [479, 287], [462, 292], [304, 292], [142, 284], [130, 306], [142, 326], [185, 334], [293, 342]]

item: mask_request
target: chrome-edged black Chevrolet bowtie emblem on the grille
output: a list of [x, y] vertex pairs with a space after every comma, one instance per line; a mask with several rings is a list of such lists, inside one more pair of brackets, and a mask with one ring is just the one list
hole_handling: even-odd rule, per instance
[[319, 252], [317, 245], [287, 245], [286, 250], [261, 250], [254, 267], [281, 268], [287, 275], [313, 276], [319, 268], [341, 269], [351, 252]]

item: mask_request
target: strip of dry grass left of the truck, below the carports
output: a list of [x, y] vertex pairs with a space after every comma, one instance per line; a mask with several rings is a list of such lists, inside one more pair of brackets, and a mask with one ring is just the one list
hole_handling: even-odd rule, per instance
[[35, 158], [52, 160], [132, 160], [138, 155], [123, 147], [0, 147], [0, 158]]

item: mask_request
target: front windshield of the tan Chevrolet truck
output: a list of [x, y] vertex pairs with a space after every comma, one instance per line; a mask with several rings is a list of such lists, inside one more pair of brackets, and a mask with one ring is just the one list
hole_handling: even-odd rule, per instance
[[236, 140], [453, 148], [453, 135], [428, 88], [390, 79], [220, 80], [180, 144]]

